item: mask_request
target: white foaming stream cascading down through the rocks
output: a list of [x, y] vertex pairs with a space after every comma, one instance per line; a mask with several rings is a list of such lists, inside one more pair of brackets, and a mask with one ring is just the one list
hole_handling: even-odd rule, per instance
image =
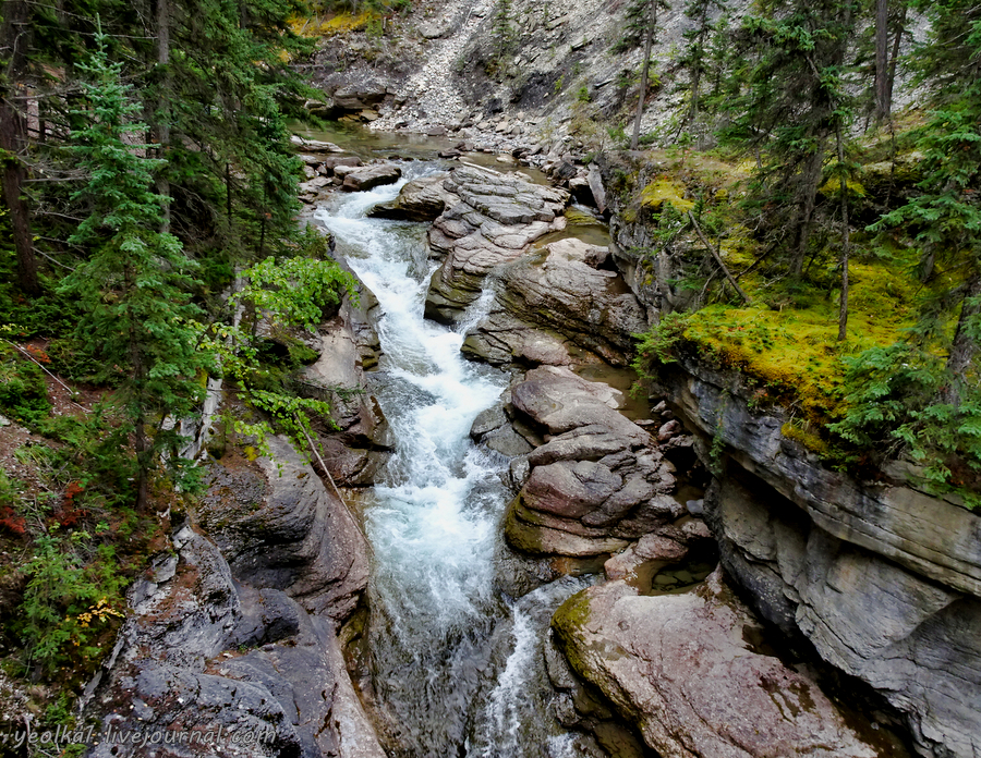
[[[429, 170], [413, 163], [407, 180]], [[508, 376], [467, 362], [461, 332], [423, 319], [425, 225], [365, 217], [407, 180], [319, 211], [384, 313], [375, 393], [397, 443], [365, 514], [379, 718], [398, 756], [582, 755], [547, 707], [542, 645], [555, 608], [585, 584], [564, 579], [519, 600], [495, 589], [509, 492], [502, 461], [468, 432]]]

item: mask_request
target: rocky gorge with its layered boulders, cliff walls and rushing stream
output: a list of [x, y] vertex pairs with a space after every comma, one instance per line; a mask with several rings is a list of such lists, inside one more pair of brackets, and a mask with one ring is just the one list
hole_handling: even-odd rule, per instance
[[[651, 230], [615, 198], [600, 245], [577, 237], [589, 211], [568, 210], [555, 170], [566, 188], [465, 157], [302, 149], [311, 218], [361, 279], [359, 305], [302, 335], [317, 357], [294, 379], [337, 428], [316, 427], [319, 459], [280, 437], [215, 456], [130, 592], [88, 714], [270, 735], [158, 756], [981, 753], [974, 514], [899, 469], [874, 485], [828, 469], [698, 356], [640, 409], [591, 380], [629, 364], [665, 293], [631, 257]], [[408, 262], [365, 262], [391, 255], [383, 232]], [[409, 344], [392, 341], [403, 308]], [[407, 452], [410, 436], [428, 447]], [[392, 578], [407, 566], [417, 585]], [[509, 603], [564, 576], [591, 586], [549, 599], [529, 653]], [[423, 638], [443, 647], [413, 650]], [[519, 653], [543, 705], [510, 729]], [[412, 658], [426, 699], [400, 706]], [[520, 742], [531, 722], [548, 726]]]

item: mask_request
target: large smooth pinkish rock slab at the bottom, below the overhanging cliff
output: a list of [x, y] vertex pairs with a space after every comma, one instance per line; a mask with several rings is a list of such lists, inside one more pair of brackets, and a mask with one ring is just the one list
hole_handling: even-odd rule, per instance
[[664, 758], [873, 758], [807, 674], [753, 651], [759, 632], [716, 571], [697, 591], [608, 582], [553, 618], [576, 672]]

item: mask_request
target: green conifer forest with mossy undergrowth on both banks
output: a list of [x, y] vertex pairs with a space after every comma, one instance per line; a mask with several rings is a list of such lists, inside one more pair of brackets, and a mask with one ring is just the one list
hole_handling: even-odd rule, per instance
[[[257, 311], [315, 325], [356, 296], [296, 222], [288, 124], [323, 97], [294, 65], [319, 41], [300, 32], [409, 4], [0, 5], [0, 413], [33, 440], [4, 460], [34, 472], [0, 470], [0, 657], [56, 683], [52, 723], [111, 647], [158, 514], [201, 492], [178, 423], [208, 378], [233, 388], [227, 423], [259, 447], [330, 418], [290, 389], [302, 346], [270, 356], [252, 328]], [[591, 158], [625, 222], [655, 229], [647, 253], [693, 241], [674, 282], [691, 307], [639, 335], [639, 372], [706, 355], [797, 408], [785, 435], [828, 466], [874, 478], [900, 457], [976, 508], [981, 5], [690, 0], [662, 81], [647, 62], [669, 5], [626, 4], [619, 49], [647, 52], [637, 117], [593, 113], [586, 94], [580, 126], [602, 136]], [[505, 47], [509, 13], [500, 0]], [[683, 107], [641, 135], [637, 94], [666, 86]]]

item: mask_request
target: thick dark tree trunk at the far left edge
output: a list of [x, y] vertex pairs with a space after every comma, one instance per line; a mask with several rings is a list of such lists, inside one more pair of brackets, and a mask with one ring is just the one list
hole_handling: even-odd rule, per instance
[[23, 156], [27, 151], [27, 120], [17, 108], [24, 76], [27, 73], [27, 35], [31, 30], [29, 10], [23, 0], [7, 0], [2, 4], [0, 24], [0, 58], [7, 59], [0, 77], [0, 150], [3, 162], [3, 200], [10, 209], [10, 225], [17, 252], [17, 279], [21, 289], [37, 294], [37, 256], [31, 233], [31, 215], [24, 199], [23, 185], [27, 178]]

